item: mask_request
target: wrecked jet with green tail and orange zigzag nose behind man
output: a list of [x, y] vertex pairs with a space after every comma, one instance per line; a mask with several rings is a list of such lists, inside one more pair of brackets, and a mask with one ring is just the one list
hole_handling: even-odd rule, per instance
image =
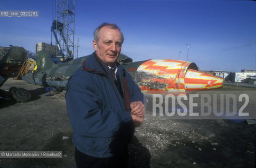
[[[22, 79], [45, 87], [67, 90], [68, 79], [87, 56], [63, 64], [54, 64], [49, 56], [40, 51], [37, 54], [37, 70], [22, 76]], [[210, 90], [223, 86], [223, 78], [198, 71], [195, 63], [173, 59], [150, 59], [132, 62], [120, 54], [118, 61], [132, 76], [141, 91], [149, 94]]]

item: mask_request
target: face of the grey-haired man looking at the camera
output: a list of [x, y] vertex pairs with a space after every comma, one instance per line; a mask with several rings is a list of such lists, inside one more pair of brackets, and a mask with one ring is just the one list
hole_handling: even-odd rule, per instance
[[118, 29], [111, 29], [108, 26], [102, 27], [99, 31], [98, 43], [92, 42], [97, 56], [108, 66], [112, 66], [122, 48], [122, 35]]

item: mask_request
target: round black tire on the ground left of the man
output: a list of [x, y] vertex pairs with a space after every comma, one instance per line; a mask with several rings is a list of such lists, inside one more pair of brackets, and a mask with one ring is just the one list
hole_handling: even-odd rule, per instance
[[18, 102], [28, 102], [31, 100], [31, 93], [23, 88], [16, 88], [12, 90], [13, 98]]

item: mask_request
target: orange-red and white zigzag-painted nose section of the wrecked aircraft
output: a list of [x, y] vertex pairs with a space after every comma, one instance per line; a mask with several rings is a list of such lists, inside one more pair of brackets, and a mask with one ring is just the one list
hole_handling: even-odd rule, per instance
[[223, 86], [223, 78], [198, 71], [193, 62], [154, 59], [143, 62], [137, 72], [143, 74], [138, 83], [141, 91], [150, 94], [210, 90]]

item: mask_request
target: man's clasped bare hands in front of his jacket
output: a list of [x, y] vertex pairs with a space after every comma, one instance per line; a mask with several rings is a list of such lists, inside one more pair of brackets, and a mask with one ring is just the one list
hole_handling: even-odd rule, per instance
[[139, 127], [143, 122], [145, 107], [141, 101], [135, 101], [130, 103], [131, 117], [134, 121], [134, 126]]

